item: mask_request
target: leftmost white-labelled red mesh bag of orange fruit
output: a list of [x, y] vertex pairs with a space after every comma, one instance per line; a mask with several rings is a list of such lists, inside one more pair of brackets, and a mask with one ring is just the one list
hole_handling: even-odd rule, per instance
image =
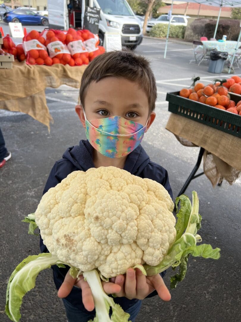
[[48, 65], [53, 64], [52, 58], [49, 57], [47, 48], [45, 47], [45, 40], [42, 39], [41, 34], [36, 30], [31, 30], [23, 38], [23, 50], [27, 56], [26, 63], [29, 65]]

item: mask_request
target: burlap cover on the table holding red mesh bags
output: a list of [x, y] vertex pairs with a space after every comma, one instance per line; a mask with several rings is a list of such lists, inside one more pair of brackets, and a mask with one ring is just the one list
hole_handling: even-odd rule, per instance
[[26, 113], [50, 129], [49, 123], [53, 119], [47, 106], [45, 88], [58, 88], [63, 84], [79, 88], [85, 68], [14, 62], [13, 69], [0, 69], [0, 109]]

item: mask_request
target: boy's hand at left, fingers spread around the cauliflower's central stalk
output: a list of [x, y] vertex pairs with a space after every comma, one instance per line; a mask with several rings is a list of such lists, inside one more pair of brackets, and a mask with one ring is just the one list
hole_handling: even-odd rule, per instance
[[[69, 275], [69, 271], [67, 272], [65, 279], [58, 290], [58, 297], [59, 298], [66, 298], [73, 287], [77, 286], [82, 289], [82, 301], [83, 304], [88, 311], [94, 310], [94, 298], [92, 296], [91, 289], [89, 284], [85, 281], [84, 276], [80, 275], [78, 279], [73, 279]], [[120, 292], [121, 286], [112, 282], [102, 282], [103, 289], [106, 294], [113, 294]]]

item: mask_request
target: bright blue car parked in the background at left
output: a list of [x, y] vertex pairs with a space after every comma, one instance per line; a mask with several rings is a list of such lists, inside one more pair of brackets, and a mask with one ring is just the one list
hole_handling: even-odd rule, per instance
[[35, 14], [31, 10], [15, 9], [4, 14], [3, 21], [9, 22], [21, 22], [22, 24], [41, 24], [43, 26], [49, 25], [49, 20], [45, 16]]

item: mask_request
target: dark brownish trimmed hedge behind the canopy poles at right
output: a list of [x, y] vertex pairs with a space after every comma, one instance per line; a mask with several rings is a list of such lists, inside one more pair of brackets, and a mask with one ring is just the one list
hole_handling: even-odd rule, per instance
[[[192, 42], [199, 40], [200, 37], [212, 38], [214, 35], [217, 21], [214, 19], [195, 19], [186, 28], [185, 37], [186, 41]], [[223, 35], [227, 35], [227, 40], [237, 41], [240, 31], [240, 20], [234, 19], [221, 19], [216, 33], [216, 39], [222, 39]]]

